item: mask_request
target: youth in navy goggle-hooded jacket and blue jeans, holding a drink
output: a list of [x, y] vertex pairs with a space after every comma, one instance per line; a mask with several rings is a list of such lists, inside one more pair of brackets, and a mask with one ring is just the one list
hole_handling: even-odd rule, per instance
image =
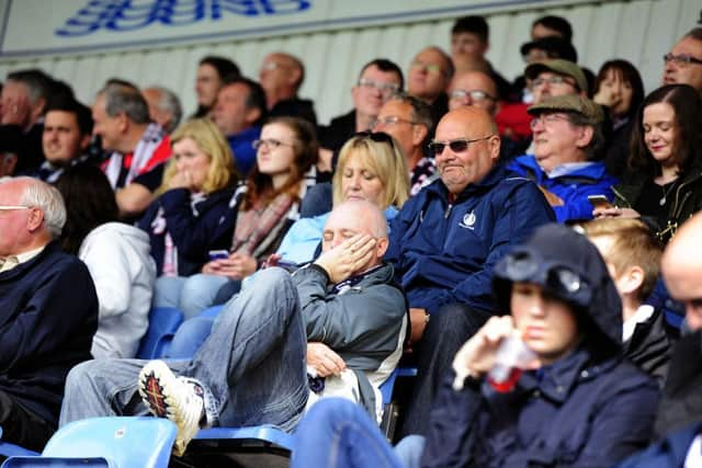
[[[292, 466], [608, 467], [646, 446], [658, 388], [622, 357], [621, 303], [595, 246], [543, 226], [496, 265], [492, 290], [511, 316], [458, 351], [426, 441], [393, 450], [363, 411], [330, 399], [297, 426]], [[506, 343], [523, 359], [502, 378]]]

